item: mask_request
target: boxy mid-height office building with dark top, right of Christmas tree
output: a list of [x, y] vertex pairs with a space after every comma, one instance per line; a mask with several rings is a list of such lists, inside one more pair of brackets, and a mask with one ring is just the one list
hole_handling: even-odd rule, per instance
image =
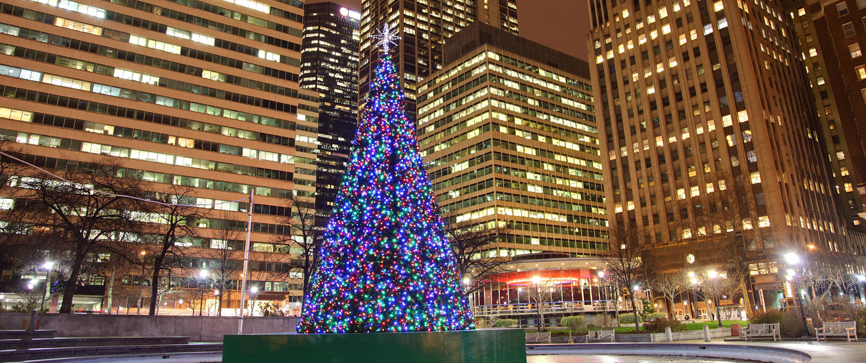
[[508, 232], [481, 258], [606, 248], [585, 60], [475, 22], [418, 88], [418, 145], [446, 218]]

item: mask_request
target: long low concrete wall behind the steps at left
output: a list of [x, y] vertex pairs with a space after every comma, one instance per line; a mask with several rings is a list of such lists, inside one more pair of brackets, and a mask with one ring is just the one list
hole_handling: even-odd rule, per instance
[[[0, 329], [20, 329], [23, 313], [0, 314]], [[190, 341], [223, 341], [237, 334], [237, 316], [40, 314], [40, 327], [57, 336], [188, 336]], [[243, 318], [244, 334], [294, 332], [297, 316]]]

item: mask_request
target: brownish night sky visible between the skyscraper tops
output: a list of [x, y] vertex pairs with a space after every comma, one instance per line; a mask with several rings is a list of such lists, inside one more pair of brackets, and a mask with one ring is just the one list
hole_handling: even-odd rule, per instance
[[[322, 1], [307, 0], [306, 3]], [[331, 1], [361, 9], [361, 0]], [[590, 30], [586, 0], [517, 0], [517, 16], [521, 36], [586, 60], [586, 34]]]

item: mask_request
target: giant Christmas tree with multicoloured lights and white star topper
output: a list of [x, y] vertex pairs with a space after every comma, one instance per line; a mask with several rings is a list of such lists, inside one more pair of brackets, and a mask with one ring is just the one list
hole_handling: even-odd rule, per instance
[[377, 38], [385, 55], [375, 69], [298, 331], [475, 328], [388, 55], [397, 36], [385, 24]]

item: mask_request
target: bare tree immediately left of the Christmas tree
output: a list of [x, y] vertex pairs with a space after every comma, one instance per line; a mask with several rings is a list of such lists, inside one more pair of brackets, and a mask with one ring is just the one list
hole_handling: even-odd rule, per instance
[[307, 291], [309, 290], [310, 277], [319, 267], [319, 249], [322, 244], [320, 229], [316, 226], [316, 209], [313, 198], [300, 195], [290, 195], [286, 198], [286, 207], [292, 212], [282, 220], [284, 226], [288, 226], [289, 234], [278, 234], [274, 237], [275, 245], [289, 245], [289, 252], [297, 253], [289, 264], [289, 271], [301, 271], [303, 275], [303, 297], [301, 308], [305, 303]]

